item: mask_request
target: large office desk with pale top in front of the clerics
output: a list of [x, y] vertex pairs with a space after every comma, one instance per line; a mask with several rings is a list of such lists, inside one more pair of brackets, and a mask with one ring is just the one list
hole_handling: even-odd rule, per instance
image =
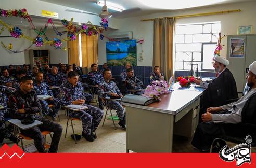
[[161, 102], [126, 106], [126, 152], [172, 152], [173, 134], [191, 137], [198, 123], [202, 92], [174, 90]]

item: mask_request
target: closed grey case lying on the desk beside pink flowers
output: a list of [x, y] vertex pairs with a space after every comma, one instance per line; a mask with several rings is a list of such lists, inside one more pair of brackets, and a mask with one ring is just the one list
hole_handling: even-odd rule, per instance
[[127, 94], [122, 97], [121, 101], [124, 103], [138, 104], [138, 105], [143, 105], [143, 106], [147, 106], [147, 105], [155, 102], [155, 100], [152, 98], [135, 95], [135, 94]]

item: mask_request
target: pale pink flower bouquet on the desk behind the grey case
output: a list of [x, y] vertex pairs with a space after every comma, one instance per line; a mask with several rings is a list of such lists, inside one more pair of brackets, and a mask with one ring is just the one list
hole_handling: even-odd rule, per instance
[[147, 88], [145, 89], [144, 94], [142, 96], [145, 97], [150, 97], [155, 99], [156, 101], [160, 102], [161, 99], [159, 95], [164, 94], [164, 93], [169, 93], [168, 91], [168, 85], [167, 81], [164, 80], [156, 80], [152, 82], [152, 85], [148, 85]]

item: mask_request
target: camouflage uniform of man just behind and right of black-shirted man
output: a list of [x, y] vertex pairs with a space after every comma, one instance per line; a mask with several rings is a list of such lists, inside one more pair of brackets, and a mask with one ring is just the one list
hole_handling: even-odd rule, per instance
[[[34, 82], [33, 84], [36, 95], [53, 96], [52, 90], [50, 90], [49, 86], [46, 83], [40, 83], [40, 85], [38, 85], [36, 82]], [[52, 116], [53, 118], [57, 116], [60, 108], [60, 104], [57, 98], [54, 98], [53, 100], [40, 100], [40, 103], [42, 106], [43, 115]], [[49, 108], [49, 104], [54, 104], [53, 110]]]

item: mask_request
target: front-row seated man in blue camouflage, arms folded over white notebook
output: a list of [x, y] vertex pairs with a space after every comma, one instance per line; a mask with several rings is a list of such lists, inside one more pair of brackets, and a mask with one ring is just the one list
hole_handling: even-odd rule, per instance
[[[62, 83], [59, 87], [58, 99], [61, 105], [78, 104], [84, 105], [86, 98], [82, 85], [79, 85], [78, 73], [71, 71], [68, 74], [68, 81]], [[103, 111], [92, 105], [87, 105], [87, 110], [70, 111], [69, 116], [82, 120], [82, 136], [93, 142], [97, 138], [95, 131], [103, 117]]]

